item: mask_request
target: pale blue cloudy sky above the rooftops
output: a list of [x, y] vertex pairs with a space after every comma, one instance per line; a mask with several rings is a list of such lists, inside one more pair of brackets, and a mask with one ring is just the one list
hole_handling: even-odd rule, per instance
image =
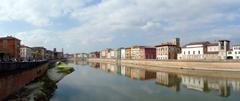
[[0, 36], [90, 52], [173, 37], [240, 42], [240, 0], [1, 0]]

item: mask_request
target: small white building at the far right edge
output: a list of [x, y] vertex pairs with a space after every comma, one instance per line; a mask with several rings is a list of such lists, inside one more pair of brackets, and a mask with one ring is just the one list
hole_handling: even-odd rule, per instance
[[234, 45], [232, 50], [227, 52], [227, 58], [228, 59], [240, 59], [240, 44], [239, 45]]

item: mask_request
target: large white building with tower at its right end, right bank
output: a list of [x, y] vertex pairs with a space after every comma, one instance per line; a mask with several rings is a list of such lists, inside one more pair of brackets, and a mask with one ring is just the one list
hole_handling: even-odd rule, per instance
[[217, 43], [193, 42], [182, 47], [179, 60], [217, 60], [226, 59], [230, 41], [219, 40]]

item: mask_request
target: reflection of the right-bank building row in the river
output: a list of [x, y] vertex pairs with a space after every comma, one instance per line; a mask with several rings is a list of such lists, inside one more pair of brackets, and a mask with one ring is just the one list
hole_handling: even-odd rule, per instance
[[125, 65], [107, 63], [90, 63], [90, 66], [94, 68], [97, 67], [104, 72], [119, 74], [134, 80], [154, 79], [156, 84], [172, 88], [177, 92], [180, 91], [181, 87], [185, 87], [187, 89], [201, 92], [216, 91], [218, 92], [219, 96], [228, 97], [230, 96], [231, 89], [233, 91], [240, 91], [239, 79], [221, 79], [159, 71], [149, 71]]

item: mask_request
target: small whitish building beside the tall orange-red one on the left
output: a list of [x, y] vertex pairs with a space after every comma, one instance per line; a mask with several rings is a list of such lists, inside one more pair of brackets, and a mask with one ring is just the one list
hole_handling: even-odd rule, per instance
[[20, 57], [23, 61], [31, 61], [33, 58], [32, 48], [22, 45], [20, 48]]

